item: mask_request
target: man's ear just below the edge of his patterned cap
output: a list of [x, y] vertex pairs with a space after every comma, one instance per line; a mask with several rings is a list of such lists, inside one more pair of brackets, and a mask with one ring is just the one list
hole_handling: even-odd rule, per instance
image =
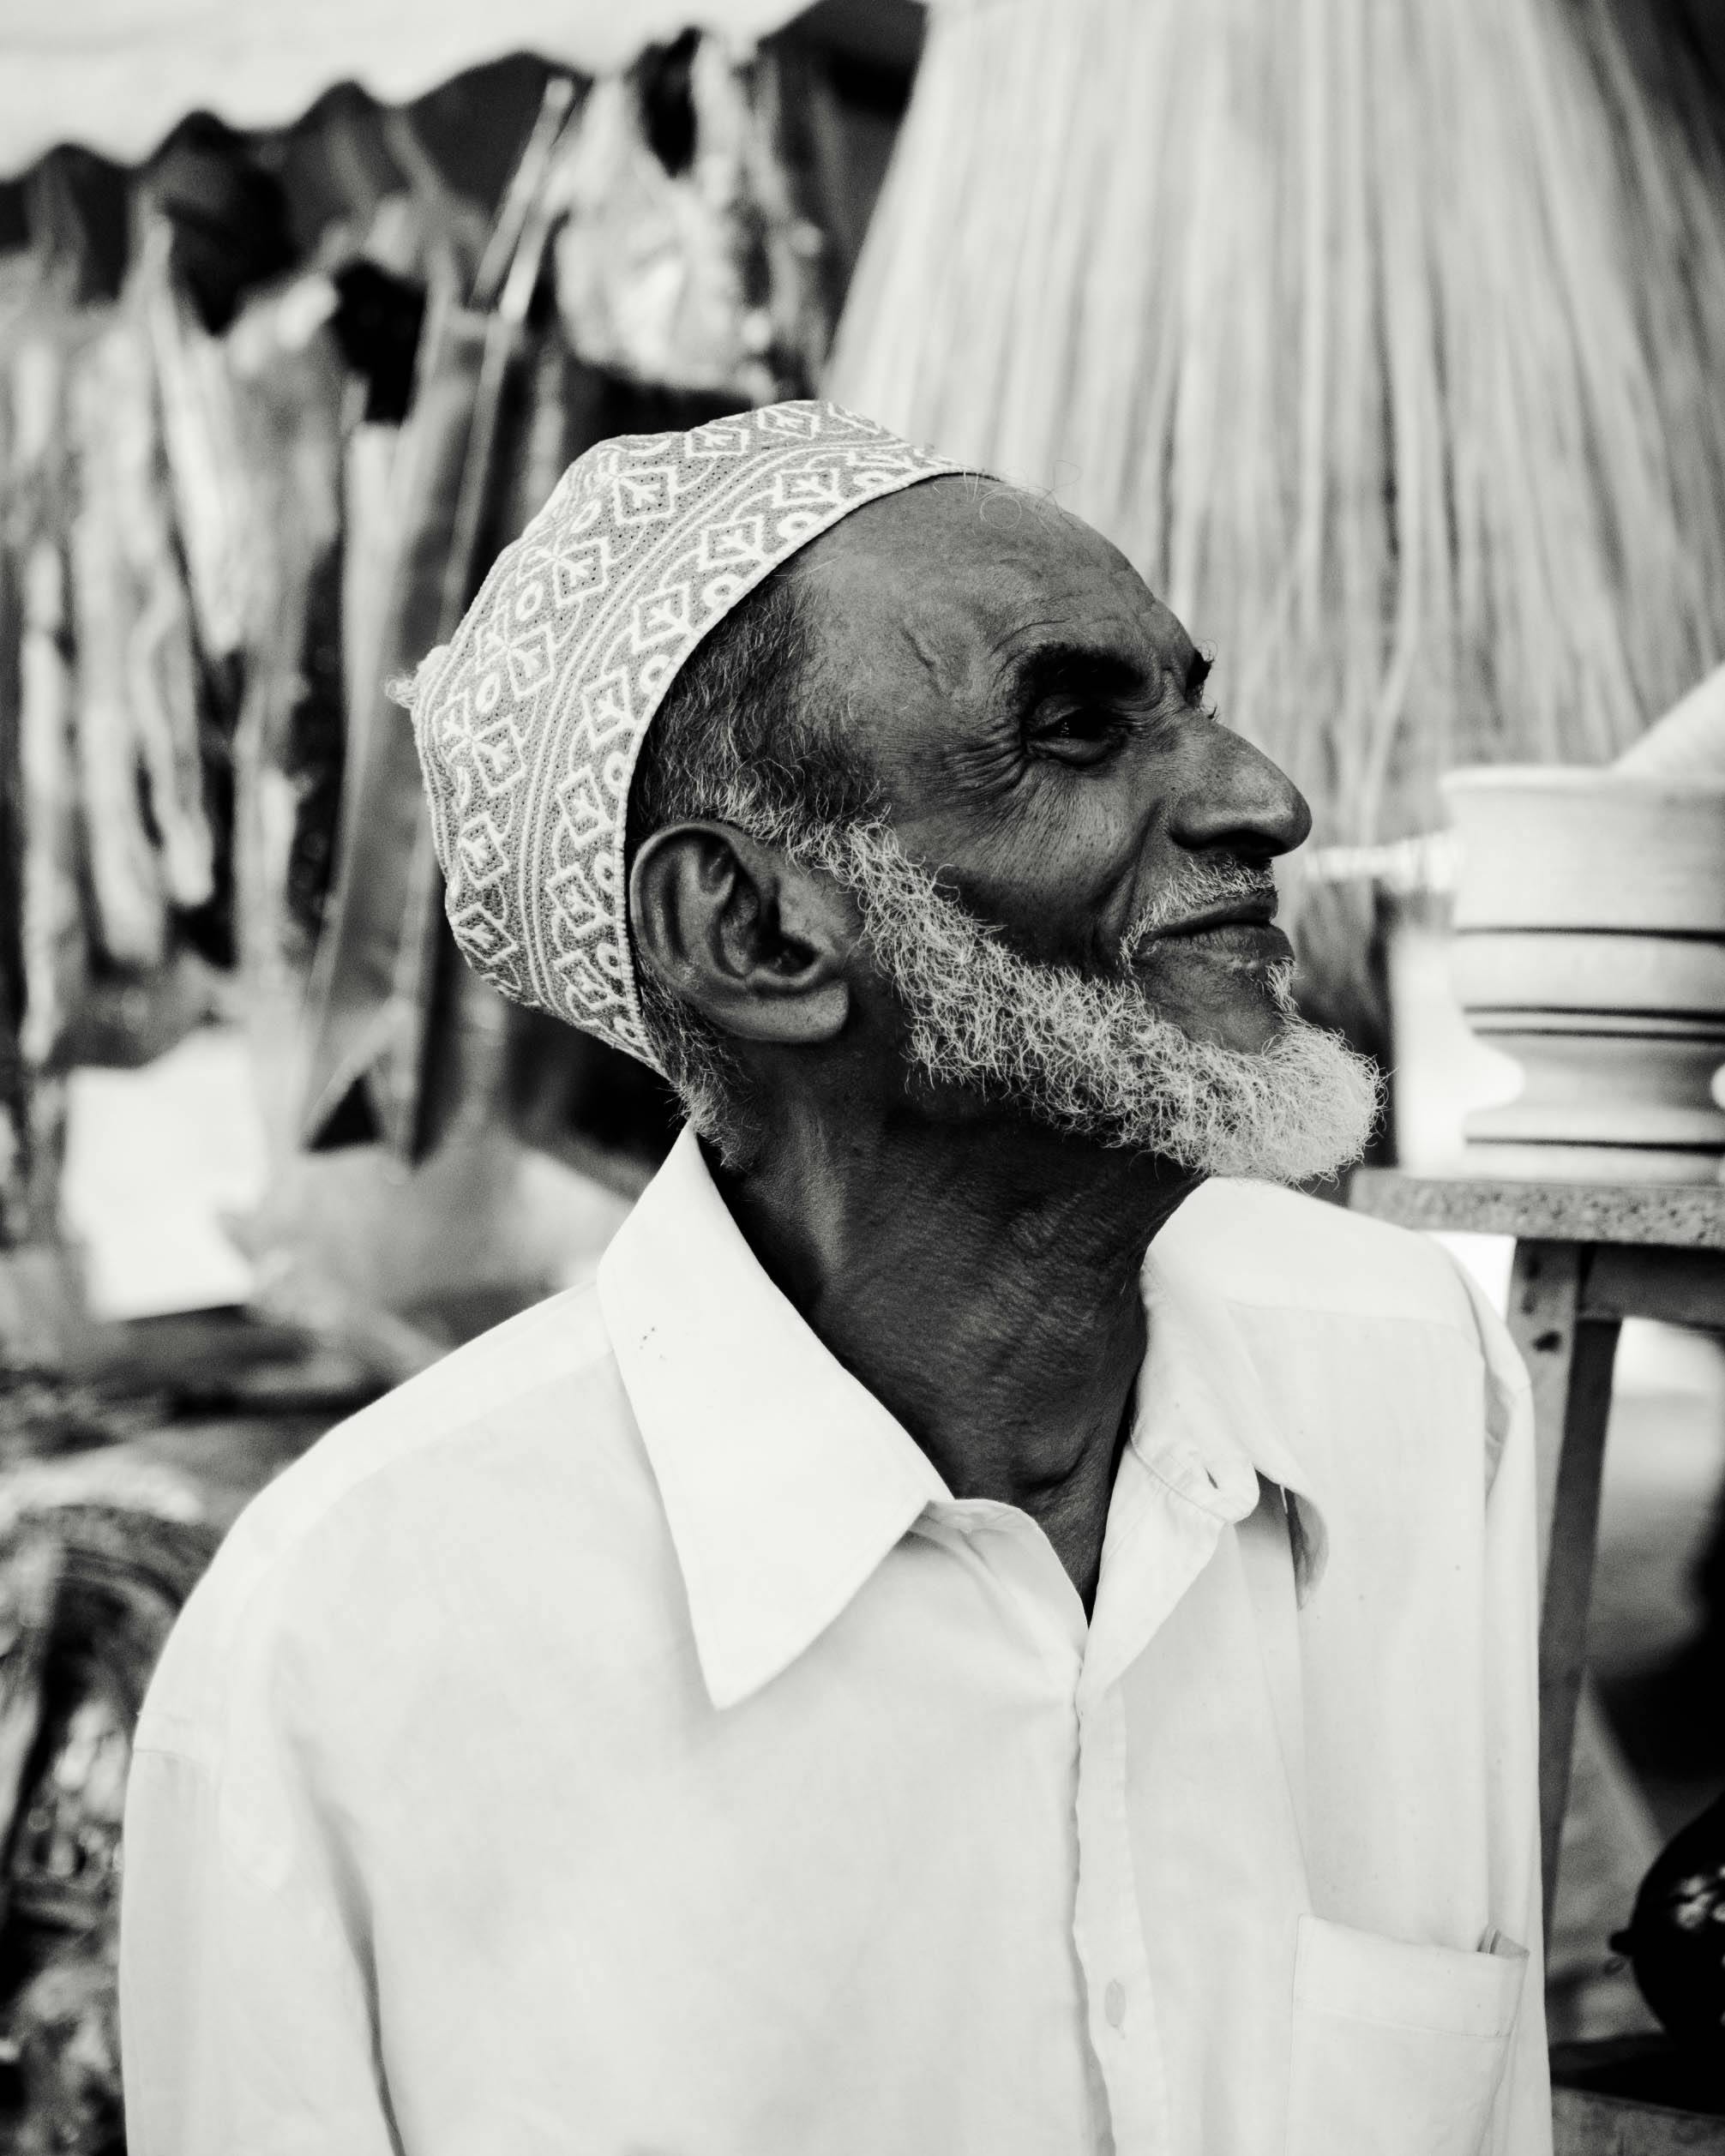
[[850, 1018], [852, 901], [731, 824], [668, 824], [630, 869], [643, 966], [746, 1041], [830, 1041]]

